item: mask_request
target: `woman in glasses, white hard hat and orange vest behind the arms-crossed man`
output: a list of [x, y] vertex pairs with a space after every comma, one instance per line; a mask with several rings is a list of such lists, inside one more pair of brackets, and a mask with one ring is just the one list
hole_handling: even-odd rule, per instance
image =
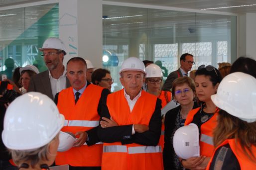
[[[162, 77], [163, 73], [159, 66], [156, 64], [150, 64], [146, 67], [146, 91], [150, 94], [155, 95], [159, 99], [162, 100], [162, 108], [171, 101], [171, 92], [170, 91], [162, 91]], [[162, 127], [161, 127], [161, 136], [159, 140], [159, 145], [163, 151], [164, 144], [164, 117], [162, 117]]]

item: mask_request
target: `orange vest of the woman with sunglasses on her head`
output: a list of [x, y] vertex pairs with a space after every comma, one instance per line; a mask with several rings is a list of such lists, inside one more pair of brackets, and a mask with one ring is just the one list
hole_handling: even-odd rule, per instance
[[[201, 107], [191, 110], [188, 113], [187, 119], [185, 121], [185, 126], [190, 124], [193, 119], [194, 115], [200, 110]], [[200, 113], [198, 113], [200, 114]], [[200, 135], [200, 155], [206, 157], [212, 157], [214, 151], [213, 145], [213, 130], [217, 125], [217, 116], [219, 112], [214, 113], [214, 115], [205, 123], [201, 125], [201, 135]]]

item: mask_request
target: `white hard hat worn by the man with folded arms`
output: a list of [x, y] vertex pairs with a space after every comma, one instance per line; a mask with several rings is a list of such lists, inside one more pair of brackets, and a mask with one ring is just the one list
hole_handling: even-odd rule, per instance
[[123, 62], [119, 74], [125, 71], [139, 71], [146, 74], [143, 62], [136, 57], [129, 57]]

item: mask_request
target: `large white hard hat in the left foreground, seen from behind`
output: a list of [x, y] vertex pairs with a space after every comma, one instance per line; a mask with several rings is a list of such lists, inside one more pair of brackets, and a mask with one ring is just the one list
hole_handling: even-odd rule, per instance
[[47, 95], [39, 92], [25, 93], [13, 100], [6, 110], [3, 144], [13, 150], [38, 149], [60, 132], [64, 120]]

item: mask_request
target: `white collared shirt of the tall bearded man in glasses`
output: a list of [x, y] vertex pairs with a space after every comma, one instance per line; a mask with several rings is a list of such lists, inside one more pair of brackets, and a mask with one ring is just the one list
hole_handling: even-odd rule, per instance
[[60, 92], [61, 90], [66, 88], [66, 75], [67, 75], [67, 71], [64, 67], [64, 72], [63, 74], [60, 76], [59, 79], [54, 79], [51, 75], [50, 70], [49, 71], [49, 78], [50, 78], [50, 83], [51, 83], [51, 88], [52, 88], [52, 96], [53, 98], [55, 97], [57, 92]]

